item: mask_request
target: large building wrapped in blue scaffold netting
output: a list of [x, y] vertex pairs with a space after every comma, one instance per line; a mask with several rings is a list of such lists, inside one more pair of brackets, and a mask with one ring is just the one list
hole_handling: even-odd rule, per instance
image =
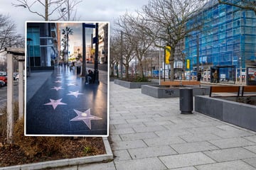
[[235, 82], [240, 75], [245, 77], [245, 68], [256, 65], [254, 11], [210, 1], [195, 19], [202, 21], [203, 28], [185, 40], [186, 72], [195, 74], [199, 60], [201, 72], [218, 70], [219, 81]]

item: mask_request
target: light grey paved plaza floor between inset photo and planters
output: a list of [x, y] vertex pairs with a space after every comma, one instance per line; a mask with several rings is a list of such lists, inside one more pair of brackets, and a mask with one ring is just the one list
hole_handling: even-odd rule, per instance
[[181, 115], [179, 98], [152, 98], [112, 82], [110, 144], [113, 162], [66, 169], [256, 169], [256, 132], [200, 113]]

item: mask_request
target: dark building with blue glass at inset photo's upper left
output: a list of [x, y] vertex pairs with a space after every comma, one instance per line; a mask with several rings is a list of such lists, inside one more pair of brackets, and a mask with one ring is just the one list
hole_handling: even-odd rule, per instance
[[27, 57], [31, 69], [53, 66], [58, 57], [56, 23], [27, 23]]

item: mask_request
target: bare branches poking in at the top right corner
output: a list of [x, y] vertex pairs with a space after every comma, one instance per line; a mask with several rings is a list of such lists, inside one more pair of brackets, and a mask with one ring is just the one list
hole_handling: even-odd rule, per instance
[[230, 5], [230, 6], [235, 6], [235, 7], [238, 7], [238, 8], [242, 8], [242, 9], [247, 10], [247, 11], [254, 11], [255, 15], [256, 15], [256, 1], [241, 0], [241, 1], [238, 1], [237, 3], [231, 3], [229, 1], [218, 0], [218, 2], [220, 4], [225, 4], [225, 5]]

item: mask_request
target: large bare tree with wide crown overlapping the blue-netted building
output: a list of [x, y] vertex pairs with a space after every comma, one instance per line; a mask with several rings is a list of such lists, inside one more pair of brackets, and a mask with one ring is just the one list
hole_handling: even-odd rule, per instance
[[[151, 0], [144, 6], [141, 17], [146, 25], [140, 26], [147, 35], [156, 40], [164, 42], [163, 45], [155, 43], [156, 46], [171, 47], [171, 81], [174, 80], [174, 53], [176, 45], [192, 31], [201, 28], [201, 20], [196, 13], [201, 9], [204, 2], [197, 0]], [[188, 26], [189, 23], [189, 26]]]

